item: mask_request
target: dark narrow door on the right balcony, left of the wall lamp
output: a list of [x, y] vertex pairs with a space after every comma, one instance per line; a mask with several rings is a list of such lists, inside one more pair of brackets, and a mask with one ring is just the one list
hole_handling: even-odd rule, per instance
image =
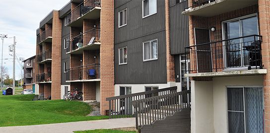
[[[210, 33], [208, 29], [195, 28], [196, 45], [209, 43]], [[210, 44], [196, 47], [198, 72], [212, 72], [212, 58]]]

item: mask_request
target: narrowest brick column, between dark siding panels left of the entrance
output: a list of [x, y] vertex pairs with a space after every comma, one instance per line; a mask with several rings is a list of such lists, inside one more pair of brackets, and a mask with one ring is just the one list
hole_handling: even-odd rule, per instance
[[170, 5], [165, 0], [167, 82], [175, 82], [174, 57], [170, 54]]

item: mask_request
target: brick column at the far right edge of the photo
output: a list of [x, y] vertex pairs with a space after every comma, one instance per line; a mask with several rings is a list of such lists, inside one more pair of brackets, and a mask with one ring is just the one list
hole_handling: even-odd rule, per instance
[[264, 75], [265, 133], [270, 133], [270, 0], [259, 0], [260, 34], [263, 36], [262, 58]]

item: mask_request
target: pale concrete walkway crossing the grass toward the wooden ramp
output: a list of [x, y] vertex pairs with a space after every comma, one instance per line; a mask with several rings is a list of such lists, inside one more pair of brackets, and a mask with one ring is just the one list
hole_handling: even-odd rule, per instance
[[0, 127], [0, 133], [73, 133], [73, 131], [127, 127], [135, 127], [135, 118], [45, 124], [34, 126]]

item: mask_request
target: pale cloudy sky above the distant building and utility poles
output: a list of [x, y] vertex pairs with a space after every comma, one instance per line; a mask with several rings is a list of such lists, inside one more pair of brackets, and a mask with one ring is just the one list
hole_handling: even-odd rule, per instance
[[[40, 21], [53, 9], [59, 10], [70, 0], [0, 0], [0, 34], [16, 37], [16, 55], [27, 59], [36, 54], [36, 30]], [[12, 38], [4, 39], [3, 66], [8, 68], [12, 77], [12, 57], [8, 46]], [[0, 40], [1, 53], [2, 40]], [[0, 54], [1, 59], [1, 54]], [[1, 62], [0, 62], [1, 63]], [[16, 79], [19, 79], [21, 67], [16, 62]]]

